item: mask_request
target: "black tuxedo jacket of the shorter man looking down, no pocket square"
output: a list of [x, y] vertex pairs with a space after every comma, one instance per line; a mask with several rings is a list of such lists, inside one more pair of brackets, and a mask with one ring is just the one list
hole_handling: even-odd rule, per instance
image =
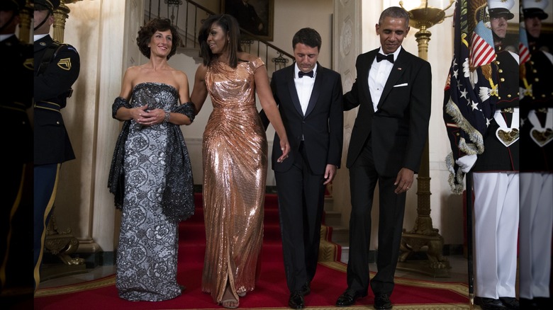
[[[284, 172], [291, 168], [303, 137], [309, 166], [315, 174], [324, 174], [327, 164], [340, 167], [342, 159], [342, 142], [344, 116], [342, 107], [342, 79], [336, 71], [317, 64], [315, 83], [305, 115], [301, 110], [294, 68], [296, 64], [275, 71], [272, 75], [271, 88], [274, 100], [279, 105], [279, 112], [286, 128], [291, 151], [289, 159], [277, 162], [281, 156], [280, 139], [274, 135], [272, 151], [272, 168]], [[311, 79], [304, 76], [302, 79]], [[267, 128], [269, 121], [262, 111], [262, 121]]]

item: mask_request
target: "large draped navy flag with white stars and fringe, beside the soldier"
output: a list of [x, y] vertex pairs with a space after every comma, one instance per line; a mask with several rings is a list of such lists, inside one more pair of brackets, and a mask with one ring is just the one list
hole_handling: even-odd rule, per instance
[[[462, 191], [464, 173], [454, 161], [463, 154], [481, 154], [483, 135], [497, 100], [493, 35], [486, 0], [457, 0], [454, 12], [454, 54], [444, 97], [444, 121], [452, 153], [446, 158], [450, 185]], [[455, 134], [451, 134], [454, 132]], [[453, 171], [452, 171], [453, 172]], [[454, 188], [454, 185], [460, 188]]]

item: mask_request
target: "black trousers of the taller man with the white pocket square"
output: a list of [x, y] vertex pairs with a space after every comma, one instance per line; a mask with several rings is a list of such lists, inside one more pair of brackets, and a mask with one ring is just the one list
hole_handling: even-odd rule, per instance
[[369, 248], [372, 229], [372, 205], [379, 185], [379, 230], [376, 275], [370, 282], [374, 294], [393, 291], [393, 275], [399, 257], [406, 193], [396, 194], [396, 176], [380, 176], [372, 156], [371, 139], [350, 167], [352, 211], [350, 214], [350, 258], [347, 263], [347, 287], [367, 293], [369, 288]]

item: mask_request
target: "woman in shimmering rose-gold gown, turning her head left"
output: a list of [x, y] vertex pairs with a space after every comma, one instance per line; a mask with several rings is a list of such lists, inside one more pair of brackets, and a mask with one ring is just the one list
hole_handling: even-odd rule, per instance
[[264, 62], [242, 52], [233, 16], [210, 16], [199, 31], [203, 64], [194, 78], [196, 113], [209, 94], [213, 104], [203, 133], [203, 212], [206, 256], [202, 291], [225, 308], [255, 288], [263, 240], [267, 176], [267, 137], [255, 105], [255, 92], [290, 150]]

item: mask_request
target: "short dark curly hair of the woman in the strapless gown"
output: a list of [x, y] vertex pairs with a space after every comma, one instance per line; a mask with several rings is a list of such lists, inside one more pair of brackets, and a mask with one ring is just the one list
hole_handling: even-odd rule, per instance
[[171, 52], [167, 55], [167, 59], [177, 53], [177, 47], [181, 45], [181, 37], [177, 32], [177, 28], [171, 24], [169, 18], [154, 18], [140, 27], [140, 30], [138, 30], [138, 37], [136, 37], [136, 45], [138, 45], [140, 52], [142, 52], [145, 57], [150, 59], [150, 47], [148, 47], [148, 44], [150, 44], [150, 40], [152, 40], [152, 35], [154, 35], [156, 31], [166, 30], [171, 30], [173, 39]]

